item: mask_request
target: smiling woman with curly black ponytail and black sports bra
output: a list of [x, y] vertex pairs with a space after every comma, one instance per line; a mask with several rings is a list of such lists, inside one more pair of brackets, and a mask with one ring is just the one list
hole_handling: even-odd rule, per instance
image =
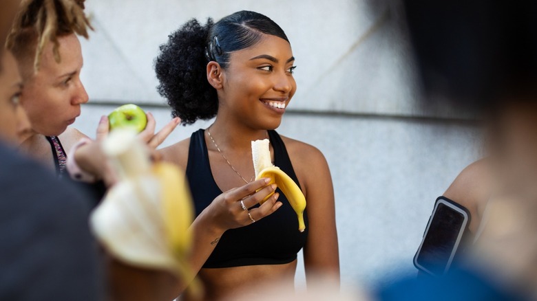
[[[339, 280], [326, 160], [317, 148], [275, 131], [297, 89], [295, 58], [282, 28], [247, 11], [206, 25], [192, 19], [160, 51], [158, 91], [173, 115], [186, 124], [216, 117], [208, 129], [161, 150], [189, 179], [197, 214], [191, 265], [199, 271], [205, 298], [233, 298], [254, 283], [284, 280], [293, 287], [302, 248], [308, 282], [319, 274]], [[266, 138], [273, 164], [306, 197], [304, 232], [297, 231], [296, 214], [277, 186], [253, 181], [251, 141]]]

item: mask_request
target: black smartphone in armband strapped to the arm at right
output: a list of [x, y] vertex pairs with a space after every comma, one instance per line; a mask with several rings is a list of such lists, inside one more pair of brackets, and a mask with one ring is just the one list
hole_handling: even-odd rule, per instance
[[441, 276], [454, 258], [463, 251], [464, 236], [470, 225], [470, 212], [462, 205], [439, 197], [414, 256], [414, 266], [420, 271]]

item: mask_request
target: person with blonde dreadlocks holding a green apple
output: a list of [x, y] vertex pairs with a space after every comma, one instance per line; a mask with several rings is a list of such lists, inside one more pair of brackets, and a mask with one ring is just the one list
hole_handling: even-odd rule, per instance
[[[21, 103], [32, 123], [32, 133], [22, 143], [23, 149], [54, 168], [59, 177], [69, 177], [67, 154], [74, 161], [78, 146], [90, 144], [86, 135], [70, 127], [81, 114], [81, 104], [89, 100], [80, 78], [83, 57], [77, 37], [88, 38], [89, 29], [92, 27], [84, 13], [84, 0], [23, 0], [8, 37], [8, 48], [17, 58], [24, 82]], [[178, 124], [178, 120], [172, 120], [154, 134], [153, 115], [148, 113], [147, 119], [140, 139], [152, 148]], [[101, 136], [106, 135], [107, 124], [103, 116], [98, 126], [98, 131], [105, 129]], [[89, 149], [93, 162], [82, 169], [92, 172], [93, 177], [107, 177], [106, 166], [102, 166], [105, 160], [95, 151], [98, 147]], [[98, 164], [101, 166], [95, 166]], [[96, 187], [94, 199], [98, 202], [104, 187]]]

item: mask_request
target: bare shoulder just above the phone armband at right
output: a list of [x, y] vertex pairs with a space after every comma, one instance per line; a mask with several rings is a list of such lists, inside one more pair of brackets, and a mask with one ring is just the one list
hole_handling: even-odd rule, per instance
[[485, 158], [464, 168], [444, 196], [474, 211], [488, 201], [491, 190], [489, 160]]

